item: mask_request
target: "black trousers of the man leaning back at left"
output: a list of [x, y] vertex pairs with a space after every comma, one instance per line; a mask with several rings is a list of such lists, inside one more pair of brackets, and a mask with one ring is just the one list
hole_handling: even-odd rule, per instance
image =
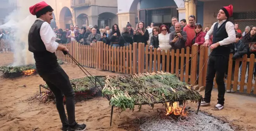
[[[53, 69], [51, 72], [42, 73], [38, 72], [40, 77], [46, 82], [49, 88], [52, 90], [56, 100], [56, 107], [61, 118], [62, 125], [74, 125], [75, 124], [75, 107], [74, 107], [74, 91], [69, 81], [69, 77], [61, 66]], [[67, 116], [65, 114], [63, 95], [66, 97], [66, 109]], [[67, 118], [68, 117], [68, 118]]]

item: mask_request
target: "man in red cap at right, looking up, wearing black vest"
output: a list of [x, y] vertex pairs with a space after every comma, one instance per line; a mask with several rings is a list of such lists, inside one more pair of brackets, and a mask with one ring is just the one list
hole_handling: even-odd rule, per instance
[[217, 15], [218, 22], [215, 22], [205, 36], [205, 46], [209, 46], [209, 37], [213, 35], [213, 44], [209, 47], [212, 52], [208, 60], [206, 75], [206, 87], [204, 100], [201, 106], [209, 106], [211, 101], [211, 91], [213, 89], [213, 79], [216, 74], [218, 85], [218, 103], [213, 110], [221, 110], [224, 107], [225, 84], [224, 76], [228, 66], [230, 54], [230, 44], [235, 42], [235, 26], [228, 20], [233, 15], [233, 6], [222, 7]]

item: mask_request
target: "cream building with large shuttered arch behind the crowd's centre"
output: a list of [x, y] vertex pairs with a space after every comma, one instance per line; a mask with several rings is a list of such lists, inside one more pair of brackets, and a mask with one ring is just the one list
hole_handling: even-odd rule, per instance
[[184, 0], [118, 0], [118, 23], [121, 27], [127, 22], [135, 27], [137, 21], [146, 25], [151, 22], [171, 25], [171, 17], [181, 20], [195, 12], [191, 3], [185, 4]]

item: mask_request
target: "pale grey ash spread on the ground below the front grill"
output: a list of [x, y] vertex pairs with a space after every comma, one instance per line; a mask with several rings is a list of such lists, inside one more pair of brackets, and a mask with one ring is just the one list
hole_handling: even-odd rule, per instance
[[142, 131], [234, 131], [232, 127], [217, 118], [204, 113], [189, 113], [187, 118], [174, 120], [170, 116], [148, 118], [140, 124]]

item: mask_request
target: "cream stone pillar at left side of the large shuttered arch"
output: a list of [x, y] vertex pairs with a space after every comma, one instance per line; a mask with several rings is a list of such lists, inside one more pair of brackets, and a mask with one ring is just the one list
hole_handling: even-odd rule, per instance
[[135, 13], [125, 12], [125, 13], [117, 13], [118, 14], [118, 26], [119, 29], [126, 27], [127, 22], [130, 22], [132, 27], [135, 27]]

